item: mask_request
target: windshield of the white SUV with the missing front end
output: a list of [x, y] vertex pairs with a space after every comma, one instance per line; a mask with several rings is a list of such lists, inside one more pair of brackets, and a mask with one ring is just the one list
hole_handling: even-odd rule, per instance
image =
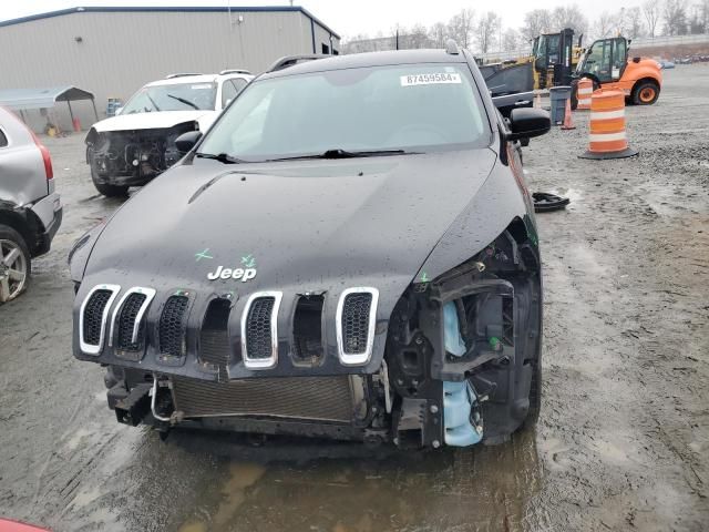
[[154, 111], [214, 110], [216, 83], [172, 83], [144, 86], [125, 104], [121, 114]]

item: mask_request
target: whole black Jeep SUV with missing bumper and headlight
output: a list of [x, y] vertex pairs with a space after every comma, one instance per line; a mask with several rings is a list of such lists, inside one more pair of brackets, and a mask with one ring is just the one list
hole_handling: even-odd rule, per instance
[[540, 410], [548, 129], [453, 42], [279, 61], [76, 243], [74, 356], [162, 433], [505, 441]]

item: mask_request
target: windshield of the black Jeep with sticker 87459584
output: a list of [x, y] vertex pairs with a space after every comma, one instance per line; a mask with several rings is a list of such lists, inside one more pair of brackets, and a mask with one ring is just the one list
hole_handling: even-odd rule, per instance
[[264, 161], [450, 150], [485, 145], [486, 124], [466, 64], [370, 66], [251, 83], [199, 151]]

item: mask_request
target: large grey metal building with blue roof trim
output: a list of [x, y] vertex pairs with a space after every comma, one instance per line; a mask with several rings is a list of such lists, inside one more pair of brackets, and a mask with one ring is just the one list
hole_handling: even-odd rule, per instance
[[[265, 70], [282, 55], [339, 53], [340, 35], [301, 7], [72, 8], [0, 22], [0, 89], [75, 85], [125, 101], [172, 72]], [[88, 129], [92, 110], [78, 113]], [[31, 125], [43, 126], [39, 116]], [[69, 115], [60, 116], [70, 129]]]

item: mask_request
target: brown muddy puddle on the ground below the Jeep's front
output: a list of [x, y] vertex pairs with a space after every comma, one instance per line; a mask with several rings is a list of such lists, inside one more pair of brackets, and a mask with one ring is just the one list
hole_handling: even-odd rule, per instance
[[292, 463], [287, 448], [273, 452], [223, 458], [177, 530], [524, 530], [542, 485], [533, 431], [507, 446], [374, 459]]

